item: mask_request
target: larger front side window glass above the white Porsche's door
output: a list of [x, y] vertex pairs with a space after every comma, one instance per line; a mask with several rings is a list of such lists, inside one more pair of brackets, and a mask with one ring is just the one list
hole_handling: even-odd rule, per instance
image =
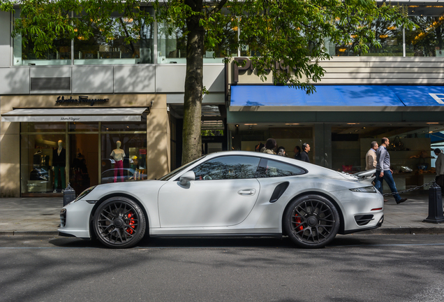
[[216, 157], [193, 168], [195, 180], [254, 178], [260, 158], [246, 156]]

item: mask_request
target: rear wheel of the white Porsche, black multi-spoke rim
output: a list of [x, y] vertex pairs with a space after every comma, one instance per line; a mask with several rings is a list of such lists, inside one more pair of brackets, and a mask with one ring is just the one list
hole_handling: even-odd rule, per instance
[[323, 196], [300, 196], [283, 214], [283, 228], [288, 237], [304, 248], [320, 248], [332, 242], [339, 231], [339, 213]]

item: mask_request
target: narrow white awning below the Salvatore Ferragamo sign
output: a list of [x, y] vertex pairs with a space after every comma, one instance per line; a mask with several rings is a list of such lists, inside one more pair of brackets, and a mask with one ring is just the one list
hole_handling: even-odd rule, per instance
[[147, 108], [20, 108], [1, 115], [2, 122], [140, 122]]

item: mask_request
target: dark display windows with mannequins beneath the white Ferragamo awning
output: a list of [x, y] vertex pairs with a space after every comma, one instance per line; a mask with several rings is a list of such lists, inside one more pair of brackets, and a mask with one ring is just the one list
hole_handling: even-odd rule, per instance
[[[68, 182], [80, 194], [99, 183], [147, 179], [146, 115], [126, 127], [118, 122], [107, 122], [105, 128], [100, 122], [23, 122], [20, 137], [22, 196], [61, 192]], [[112, 156], [117, 141], [121, 158]]]

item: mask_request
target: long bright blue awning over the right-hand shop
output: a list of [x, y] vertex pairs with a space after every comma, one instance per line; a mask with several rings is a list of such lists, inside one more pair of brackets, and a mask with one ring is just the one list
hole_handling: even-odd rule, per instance
[[[272, 85], [233, 85], [230, 111], [305, 110], [365, 111], [444, 110], [443, 86], [317, 85], [306, 94], [299, 88]], [[442, 107], [442, 108], [439, 108]], [[404, 108], [404, 109], [402, 109]]]

